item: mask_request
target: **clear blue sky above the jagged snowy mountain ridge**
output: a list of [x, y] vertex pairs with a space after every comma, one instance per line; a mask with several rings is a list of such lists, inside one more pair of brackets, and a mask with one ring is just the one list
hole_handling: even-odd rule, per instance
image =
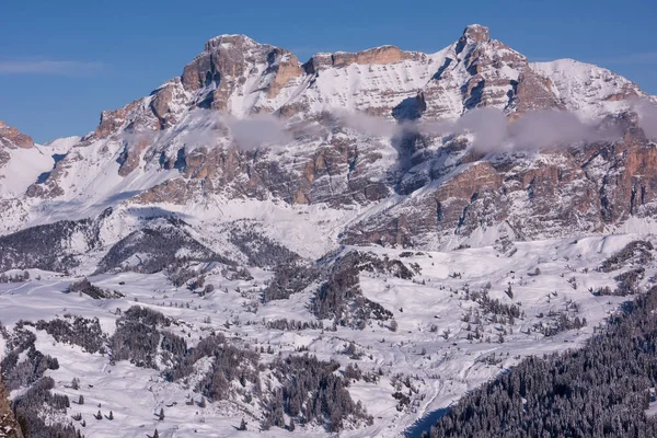
[[95, 128], [223, 33], [315, 51], [383, 44], [433, 53], [481, 23], [533, 60], [595, 62], [657, 94], [655, 0], [4, 0], [0, 119], [44, 142]]

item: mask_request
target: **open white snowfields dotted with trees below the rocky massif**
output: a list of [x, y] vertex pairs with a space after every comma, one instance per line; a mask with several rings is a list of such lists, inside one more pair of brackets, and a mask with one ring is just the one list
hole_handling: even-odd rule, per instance
[[[270, 276], [257, 269], [253, 270], [252, 280], [209, 276], [208, 281], [215, 284], [217, 291], [207, 297], [198, 297], [185, 288], [174, 288], [160, 274], [126, 273], [91, 277], [96, 285], [126, 295], [123, 299], [114, 300], [93, 300], [87, 296], [62, 293], [71, 278], [33, 272], [32, 278], [41, 275], [39, 279], [0, 285], [0, 320], [11, 327], [20, 319], [50, 320], [72, 313], [100, 318], [103, 331], [112, 334], [118, 318], [116, 309], [125, 311], [132, 304], [139, 304], [184, 322], [181, 327], [191, 334], [192, 343], [211, 327], [237, 343], [247, 343], [252, 347], [272, 346], [275, 355], [262, 355], [264, 362], [273, 360], [278, 351], [283, 355], [295, 354], [299, 347], [303, 347], [320, 358], [337, 360], [343, 371], [349, 364], [358, 364], [364, 371], [378, 372], [380, 368], [383, 374], [378, 383], [357, 381], [349, 388], [351, 396], [360, 400], [373, 415], [373, 425], [357, 430], [347, 428], [341, 436], [394, 437], [400, 436], [417, 418], [448, 406], [469, 389], [494, 378], [522, 357], [563, 350], [586, 339], [598, 322], [603, 321], [624, 300], [622, 297], [591, 295], [589, 288], [613, 286], [611, 277], [618, 274], [596, 272], [593, 268], [635, 238], [610, 235], [577, 242], [522, 243], [517, 245], [517, 252], [510, 257], [499, 256], [493, 247], [411, 253], [401, 258], [402, 251], [358, 247], [358, 251], [372, 251], [380, 256], [399, 258], [406, 265], [417, 263], [420, 268], [422, 274], [412, 280], [370, 273], [360, 275], [365, 296], [394, 314], [399, 323], [396, 332], [391, 332], [388, 324], [373, 321], [365, 330], [337, 326], [336, 332], [267, 328], [268, 321], [280, 318], [312, 321], [314, 316], [308, 311], [307, 303], [311, 298], [308, 292], [293, 296], [290, 300], [256, 304], [255, 313], [245, 312], [245, 307], [260, 301], [257, 285]], [[643, 283], [657, 273], [654, 262], [645, 267], [646, 279]], [[540, 275], [531, 275], [537, 268]], [[514, 290], [512, 299], [504, 292], [509, 284]], [[466, 296], [486, 288], [489, 288], [492, 298], [506, 304], [518, 304], [523, 316], [509, 324], [492, 322], [488, 314], [482, 319], [482, 341], [468, 341], [468, 334], [473, 332], [469, 332], [469, 324], [463, 319], [471, 310], [481, 309], [481, 306]], [[188, 309], [186, 304], [189, 304]], [[570, 314], [587, 320], [583, 328], [550, 337], [537, 331], [537, 324], [550, 324], [553, 320], [549, 316], [551, 311], [562, 312], [575, 307], [577, 311], [569, 311]], [[226, 321], [231, 322], [228, 328]], [[330, 323], [325, 322], [327, 325]], [[476, 324], [472, 325], [470, 330], [474, 331]], [[504, 343], [498, 339], [502, 330], [506, 333]], [[84, 396], [85, 404], [80, 406], [73, 403], [70, 414], [82, 413], [88, 435], [131, 437], [149, 434], [157, 427], [160, 434], [181, 437], [196, 436], [194, 430], [208, 437], [243, 436], [233, 428], [242, 417], [249, 419], [249, 430], [262, 434], [257, 433], [257, 417], [262, 415], [257, 403], [234, 400], [209, 403], [206, 408], [187, 406], [183, 402], [188, 400], [192, 389], [182, 383], [166, 382], [157, 370], [138, 368], [127, 361], [113, 366], [106, 355], [88, 354], [79, 347], [55, 342], [43, 331], [34, 332], [37, 335], [37, 349], [59, 359], [59, 369], [47, 371], [47, 376], [56, 381], [55, 392], [68, 394], [71, 400]], [[364, 353], [359, 359], [349, 358], [344, 353], [346, 345], [351, 342], [358, 351]], [[401, 377], [395, 378], [395, 374]], [[406, 376], [414, 390], [410, 404], [399, 411], [395, 407], [397, 401], [392, 394], [396, 385], [405, 388], [403, 382]], [[80, 379], [79, 390], [67, 388], [74, 377]], [[18, 394], [15, 392], [13, 396]], [[199, 395], [196, 394], [196, 397], [199, 399]], [[99, 408], [97, 404], [101, 404], [105, 415], [112, 410], [115, 417], [113, 423], [92, 417]], [[166, 417], [164, 422], [158, 422], [153, 414], [162, 407]], [[289, 433], [273, 428], [265, 435], [284, 434]], [[296, 434], [323, 436], [325, 433], [309, 425], [298, 427]]]

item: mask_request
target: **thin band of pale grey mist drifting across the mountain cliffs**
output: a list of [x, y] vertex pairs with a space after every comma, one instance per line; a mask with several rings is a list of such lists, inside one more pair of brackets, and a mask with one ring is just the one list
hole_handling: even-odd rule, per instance
[[[639, 115], [639, 126], [648, 138], [657, 138], [657, 106], [643, 100], [634, 103]], [[333, 128], [345, 127], [362, 136], [394, 138], [407, 132], [423, 136], [471, 135], [472, 147], [482, 152], [512, 150], [535, 151], [543, 148], [568, 147], [581, 142], [618, 141], [623, 131], [619, 126], [604, 126], [602, 120], [581, 120], [566, 111], [529, 111], [510, 118], [498, 108], [474, 108], [453, 120], [394, 122], [359, 112], [326, 111], [334, 120]], [[321, 137], [324, 129], [316, 123], [296, 123], [273, 114], [246, 117], [220, 115], [210, 110], [196, 110], [191, 116], [197, 119], [193, 129], [181, 134], [180, 139], [189, 146], [216, 145], [219, 138], [230, 136], [243, 150], [258, 148], [278, 149], [293, 140], [295, 135]], [[131, 134], [122, 138], [128, 143], [158, 142], [165, 136], [153, 131]]]

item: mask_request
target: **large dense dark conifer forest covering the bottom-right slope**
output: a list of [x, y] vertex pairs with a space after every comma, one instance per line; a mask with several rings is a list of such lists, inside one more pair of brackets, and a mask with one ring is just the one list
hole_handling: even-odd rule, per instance
[[655, 437], [645, 410], [657, 380], [657, 288], [612, 315], [578, 350], [530, 357], [471, 392], [437, 437]]

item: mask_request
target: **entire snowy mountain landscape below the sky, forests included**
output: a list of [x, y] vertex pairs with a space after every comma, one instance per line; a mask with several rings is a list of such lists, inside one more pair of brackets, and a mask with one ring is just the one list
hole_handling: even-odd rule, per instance
[[470, 25], [0, 123], [0, 436], [653, 436], [655, 105]]

